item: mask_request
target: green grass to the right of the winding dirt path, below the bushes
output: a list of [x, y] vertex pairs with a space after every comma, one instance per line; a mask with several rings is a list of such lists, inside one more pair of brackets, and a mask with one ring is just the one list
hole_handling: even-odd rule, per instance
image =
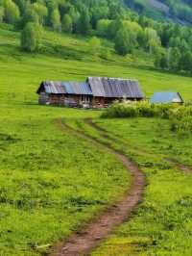
[[169, 121], [156, 118], [97, 123], [123, 141], [119, 149], [138, 163], [148, 185], [132, 219], [92, 255], [191, 255], [192, 172], [180, 169], [181, 164], [192, 166], [191, 137], [176, 136]]

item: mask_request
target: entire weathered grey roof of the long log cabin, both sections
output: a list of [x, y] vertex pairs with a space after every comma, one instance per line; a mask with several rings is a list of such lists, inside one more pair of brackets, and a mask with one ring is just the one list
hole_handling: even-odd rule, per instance
[[108, 98], [144, 97], [138, 81], [106, 77], [88, 77], [84, 83], [45, 81], [36, 92], [40, 93], [41, 90], [49, 94], [79, 94]]

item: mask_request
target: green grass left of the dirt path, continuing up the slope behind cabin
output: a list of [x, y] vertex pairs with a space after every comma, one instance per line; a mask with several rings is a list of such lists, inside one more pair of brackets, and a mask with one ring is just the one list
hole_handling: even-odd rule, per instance
[[136, 78], [148, 96], [179, 90], [188, 100], [192, 79], [151, 70], [147, 58], [117, 57], [108, 41], [108, 60], [91, 54], [88, 38], [52, 32], [45, 33], [38, 54], [21, 52], [19, 34], [3, 28], [0, 43], [0, 254], [40, 255], [47, 247], [39, 245], [67, 237], [130, 184], [113, 156], [61, 133], [56, 123], [100, 112], [38, 106], [41, 80]]

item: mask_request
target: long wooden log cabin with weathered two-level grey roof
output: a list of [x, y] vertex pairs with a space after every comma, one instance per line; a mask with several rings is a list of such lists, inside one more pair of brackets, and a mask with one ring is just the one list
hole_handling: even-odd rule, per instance
[[136, 80], [88, 77], [84, 83], [42, 82], [36, 91], [39, 104], [68, 107], [103, 108], [115, 100], [142, 100]]

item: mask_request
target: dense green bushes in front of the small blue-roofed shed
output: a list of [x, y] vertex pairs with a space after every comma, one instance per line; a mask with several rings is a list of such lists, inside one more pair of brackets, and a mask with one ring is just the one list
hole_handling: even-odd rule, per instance
[[192, 132], [192, 106], [174, 104], [150, 104], [149, 102], [115, 102], [103, 114], [104, 118], [114, 117], [160, 117], [170, 120], [171, 131], [182, 135]]

